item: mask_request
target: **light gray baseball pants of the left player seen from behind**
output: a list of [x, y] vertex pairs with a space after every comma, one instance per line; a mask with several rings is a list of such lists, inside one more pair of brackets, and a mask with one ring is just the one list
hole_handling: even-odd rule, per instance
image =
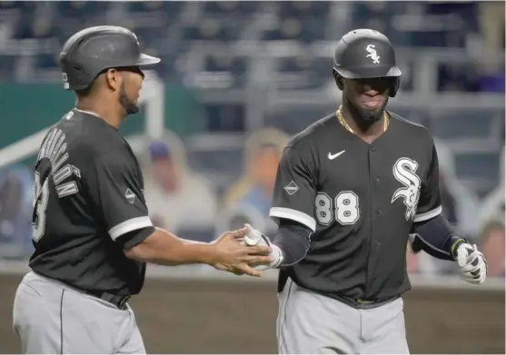
[[120, 310], [33, 271], [15, 293], [13, 328], [24, 354], [145, 354], [130, 306]]

